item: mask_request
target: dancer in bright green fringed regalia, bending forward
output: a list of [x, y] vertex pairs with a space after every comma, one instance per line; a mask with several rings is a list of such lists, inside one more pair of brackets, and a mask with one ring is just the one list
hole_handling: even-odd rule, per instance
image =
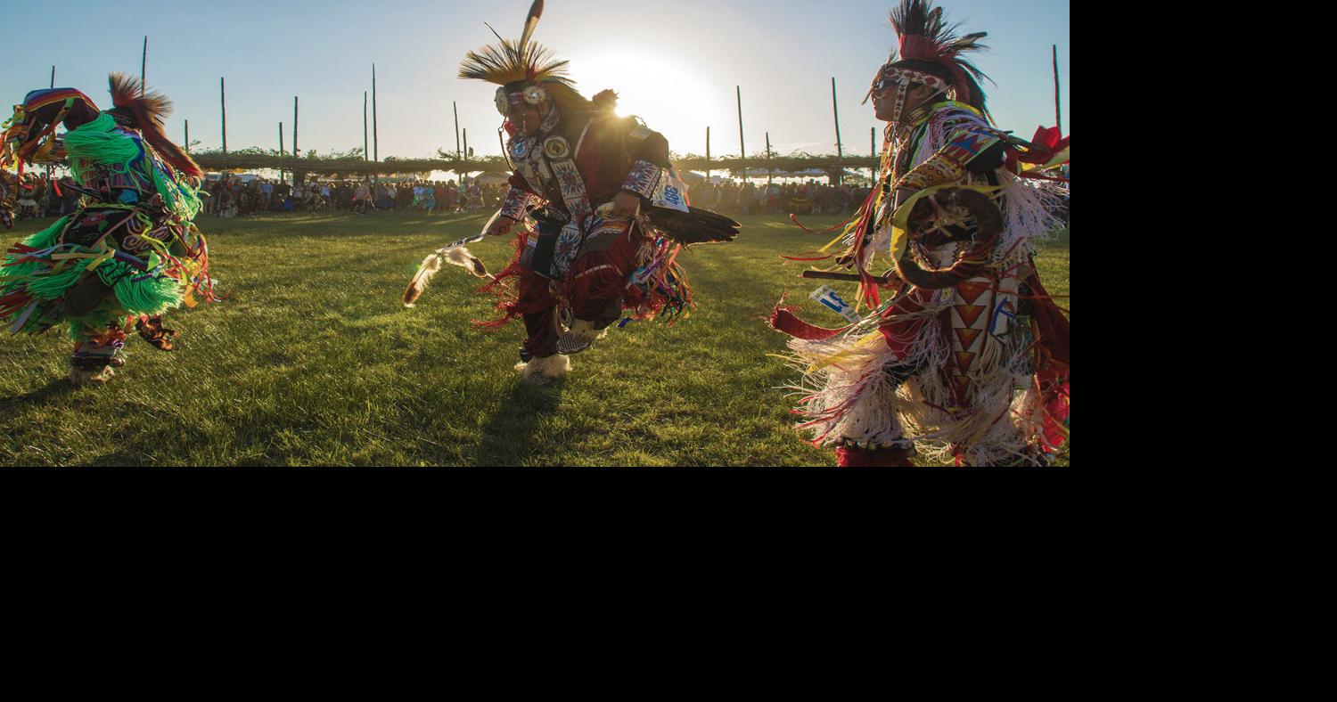
[[[127, 334], [172, 350], [162, 314], [210, 301], [209, 247], [191, 222], [203, 175], [163, 134], [171, 103], [111, 75], [112, 108], [74, 88], [32, 91], [4, 123], [0, 167], [63, 162], [79, 209], [0, 258], [0, 325], [15, 333], [67, 326], [70, 377], [103, 384], [124, 365]], [[57, 139], [56, 128], [67, 131]]]

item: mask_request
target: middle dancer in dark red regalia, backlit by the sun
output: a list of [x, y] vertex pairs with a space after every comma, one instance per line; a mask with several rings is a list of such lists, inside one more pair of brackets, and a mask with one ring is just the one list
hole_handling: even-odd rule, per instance
[[[564, 376], [570, 354], [619, 321], [686, 314], [691, 291], [678, 253], [738, 233], [733, 219], [689, 206], [662, 134], [619, 118], [612, 91], [582, 96], [567, 62], [532, 41], [541, 12], [537, 0], [520, 40], [469, 52], [460, 67], [461, 78], [500, 86], [515, 174], [487, 234], [515, 234], [516, 255], [484, 289], [503, 298], [505, 317], [491, 326], [524, 320], [527, 362], [516, 368], [537, 384]], [[420, 271], [406, 304], [422, 283]]]

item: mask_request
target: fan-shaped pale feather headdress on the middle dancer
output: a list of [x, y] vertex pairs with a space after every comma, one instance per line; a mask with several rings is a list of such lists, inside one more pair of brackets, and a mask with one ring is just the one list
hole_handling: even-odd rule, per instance
[[533, 29], [541, 16], [543, 0], [535, 0], [519, 40], [497, 35], [500, 43], [471, 51], [460, 63], [460, 78], [501, 86], [497, 111], [508, 118], [523, 104], [537, 106], [548, 99], [564, 112], [590, 108], [590, 102], [576, 92], [575, 82], [567, 75], [570, 62], [533, 41]]

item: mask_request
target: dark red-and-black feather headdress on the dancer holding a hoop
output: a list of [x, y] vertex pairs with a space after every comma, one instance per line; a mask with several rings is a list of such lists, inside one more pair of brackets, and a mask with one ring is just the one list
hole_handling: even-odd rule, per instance
[[988, 80], [963, 55], [985, 47], [980, 39], [985, 32], [957, 36], [959, 24], [943, 19], [943, 8], [932, 0], [901, 0], [892, 9], [892, 28], [900, 40], [900, 49], [878, 71], [873, 90], [886, 83], [909, 86], [921, 83], [937, 88], [951, 99], [967, 103], [988, 115], [981, 80]]

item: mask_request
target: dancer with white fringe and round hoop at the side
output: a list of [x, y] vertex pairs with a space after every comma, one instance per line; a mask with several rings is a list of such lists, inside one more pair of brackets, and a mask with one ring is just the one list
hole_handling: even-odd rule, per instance
[[[802, 425], [841, 465], [910, 465], [916, 451], [957, 465], [1046, 464], [1067, 436], [1068, 321], [1035, 271], [1038, 241], [1060, 223], [1040, 170], [1067, 139], [1021, 142], [993, 127], [957, 36], [928, 0], [892, 12], [900, 56], [874, 79], [888, 122], [881, 183], [842, 235], [833, 270], [870, 308], [820, 329], [777, 308], [773, 325], [805, 372]], [[1024, 171], [1024, 172], [1023, 172]], [[892, 270], [878, 275], [878, 251]], [[850, 274], [840, 269], [853, 270]]]

